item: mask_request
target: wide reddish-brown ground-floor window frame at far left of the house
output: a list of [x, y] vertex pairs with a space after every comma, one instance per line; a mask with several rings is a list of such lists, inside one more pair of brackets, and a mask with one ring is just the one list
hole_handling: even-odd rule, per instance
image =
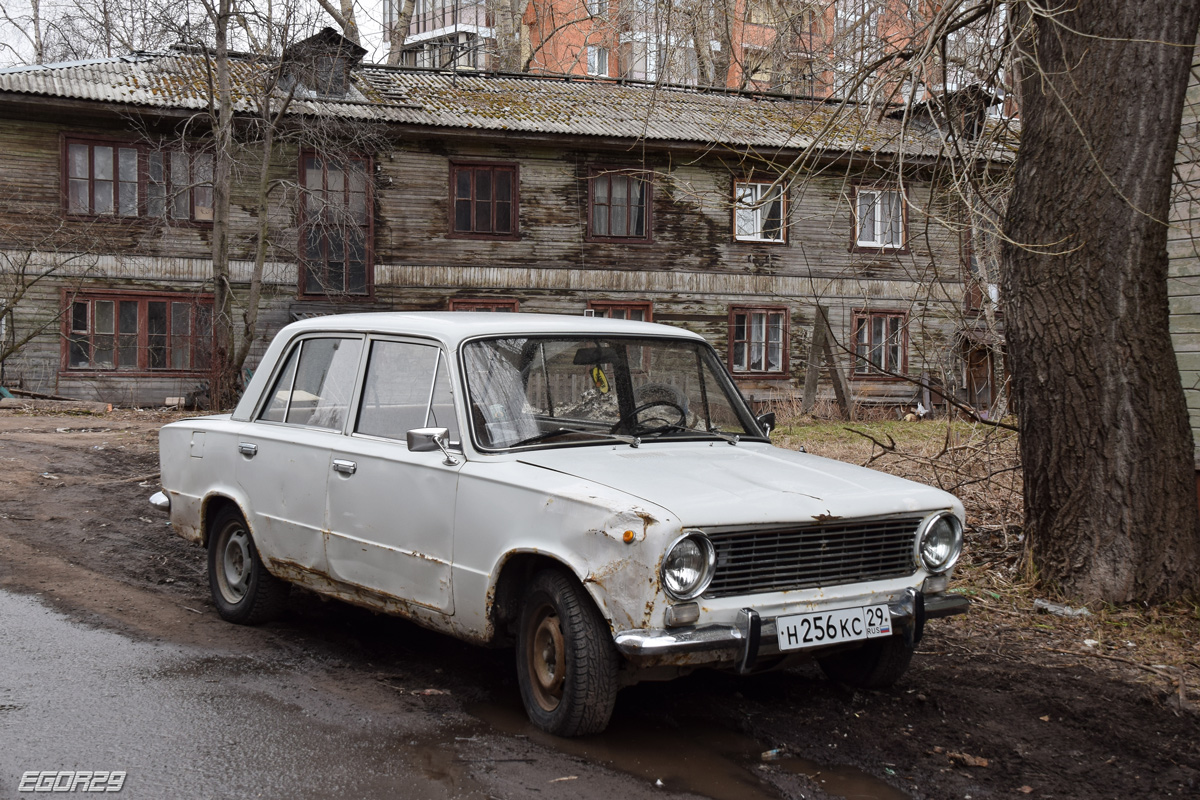
[[[96, 303], [107, 302], [113, 303], [112, 307], [112, 331], [97, 331], [97, 312]], [[136, 308], [136, 330], [121, 331], [121, 305], [133, 303]], [[151, 303], [164, 303], [167, 307], [163, 309], [163, 325], [166, 326], [161, 333], [151, 333], [150, 331], [150, 305]], [[170, 330], [174, 323], [174, 305], [186, 305], [193, 311], [188, 314], [188, 332], [179, 333]], [[80, 318], [78, 314], [79, 306], [85, 306], [83, 325], [80, 326]], [[149, 375], [190, 375], [190, 377], [202, 377], [206, 375], [211, 371], [211, 357], [214, 348], [214, 331], [212, 331], [212, 295], [204, 293], [151, 293], [151, 291], [114, 291], [94, 289], [89, 291], [64, 291], [62, 293], [62, 349], [60, 360], [60, 372], [64, 375], [121, 375], [121, 377], [149, 377]], [[196, 313], [196, 308], [204, 308], [208, 311], [208, 335], [205, 337], [203, 330], [202, 315]], [[200, 327], [198, 327], [200, 325]], [[133, 337], [127, 339], [122, 345], [118, 339], [121, 336]], [[170, 365], [174, 361], [175, 354], [179, 348], [180, 339], [186, 339], [187, 348], [187, 367], [170, 367], [162, 366], [155, 367], [151, 365], [154, 357], [154, 347], [156, 343], [151, 342], [152, 336], [161, 336], [161, 343], [158, 345], [162, 348], [162, 359], [166, 365]], [[112, 338], [112, 350], [113, 361], [112, 366], [96, 366], [94, 362], [96, 354], [96, 341], [97, 337], [110, 337]], [[208, 347], [204, 347], [204, 342], [208, 342]], [[88, 365], [86, 366], [72, 366], [73, 356], [76, 354], [74, 348], [86, 342], [88, 347]], [[120, 355], [122, 349], [132, 348], [134, 351], [134, 357], [137, 360], [133, 365], [122, 365], [120, 361]]]

